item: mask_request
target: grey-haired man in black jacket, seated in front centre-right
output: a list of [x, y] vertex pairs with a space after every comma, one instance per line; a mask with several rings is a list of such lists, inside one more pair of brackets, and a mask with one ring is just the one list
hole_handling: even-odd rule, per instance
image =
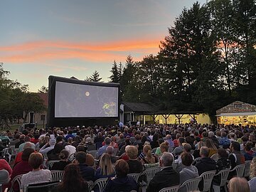
[[180, 176], [172, 167], [174, 156], [164, 152], [160, 159], [161, 171], [157, 172], [146, 188], [146, 192], [158, 192], [162, 188], [177, 186], [180, 183]]

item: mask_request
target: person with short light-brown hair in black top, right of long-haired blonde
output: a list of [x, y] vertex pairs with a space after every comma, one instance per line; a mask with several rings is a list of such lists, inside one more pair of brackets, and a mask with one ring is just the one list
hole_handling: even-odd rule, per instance
[[125, 152], [129, 157], [127, 161], [129, 165], [129, 174], [141, 173], [143, 170], [142, 162], [137, 159], [138, 149], [136, 146], [127, 146]]

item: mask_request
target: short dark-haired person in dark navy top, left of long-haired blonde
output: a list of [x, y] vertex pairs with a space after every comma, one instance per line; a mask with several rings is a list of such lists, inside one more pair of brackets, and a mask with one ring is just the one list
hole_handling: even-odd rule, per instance
[[86, 164], [85, 152], [78, 152], [75, 154], [75, 162], [78, 164], [82, 178], [85, 181], [92, 181], [95, 177], [95, 170]]

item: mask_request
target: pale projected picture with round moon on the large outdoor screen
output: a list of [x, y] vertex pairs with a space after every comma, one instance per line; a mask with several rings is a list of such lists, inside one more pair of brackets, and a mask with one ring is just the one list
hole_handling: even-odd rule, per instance
[[55, 117], [118, 117], [118, 87], [56, 81]]

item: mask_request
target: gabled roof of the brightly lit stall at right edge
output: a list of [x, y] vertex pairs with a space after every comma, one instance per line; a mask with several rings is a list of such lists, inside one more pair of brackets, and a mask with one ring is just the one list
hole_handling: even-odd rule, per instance
[[230, 105], [227, 105], [225, 107], [222, 107], [221, 109], [216, 111], [216, 114], [228, 114], [228, 113], [251, 113], [256, 112], [256, 106], [250, 105], [246, 102], [240, 102], [235, 101], [233, 103], [230, 103]]

